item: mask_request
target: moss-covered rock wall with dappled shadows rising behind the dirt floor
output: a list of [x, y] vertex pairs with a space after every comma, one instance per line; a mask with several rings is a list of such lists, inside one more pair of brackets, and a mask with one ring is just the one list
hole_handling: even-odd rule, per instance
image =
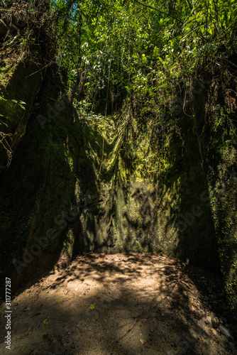
[[[11, 87], [19, 84], [20, 69]], [[222, 270], [236, 307], [236, 177], [228, 175], [236, 166], [236, 143], [226, 148], [212, 132], [211, 144], [224, 156], [211, 160], [207, 92], [161, 138], [149, 124], [138, 129], [135, 114], [124, 119], [126, 107], [84, 122], [68, 102], [42, 129], [36, 117], [59, 98], [55, 72], [41, 83], [45, 99], [32, 111], [9, 170], [0, 175], [2, 271], [13, 273], [14, 287], [62, 255], [162, 252]], [[16, 99], [31, 100], [31, 82], [26, 92]], [[225, 121], [224, 107], [219, 110]]]

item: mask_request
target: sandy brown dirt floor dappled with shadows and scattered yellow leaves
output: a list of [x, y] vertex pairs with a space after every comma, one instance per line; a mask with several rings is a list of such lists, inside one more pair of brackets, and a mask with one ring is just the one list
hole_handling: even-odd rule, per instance
[[237, 354], [221, 297], [216, 276], [166, 256], [62, 260], [13, 297], [11, 350], [1, 305], [0, 354]]

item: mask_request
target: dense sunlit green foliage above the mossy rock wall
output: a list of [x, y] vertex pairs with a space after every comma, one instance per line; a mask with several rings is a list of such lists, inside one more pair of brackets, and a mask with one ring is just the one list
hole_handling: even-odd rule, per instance
[[52, 6], [58, 63], [67, 68], [69, 84], [83, 82], [80, 91], [88, 102], [106, 103], [104, 114], [108, 104], [124, 97], [163, 106], [177, 84], [189, 85], [197, 75], [224, 67], [235, 50], [233, 0], [54, 1]]

